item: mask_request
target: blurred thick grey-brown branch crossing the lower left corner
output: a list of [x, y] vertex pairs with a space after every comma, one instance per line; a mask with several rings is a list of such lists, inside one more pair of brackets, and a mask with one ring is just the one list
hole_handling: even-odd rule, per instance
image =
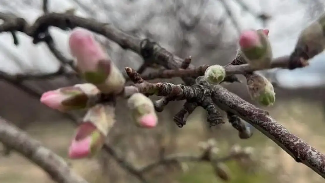
[[60, 156], [1, 117], [0, 141], [43, 168], [58, 183], [87, 183]]

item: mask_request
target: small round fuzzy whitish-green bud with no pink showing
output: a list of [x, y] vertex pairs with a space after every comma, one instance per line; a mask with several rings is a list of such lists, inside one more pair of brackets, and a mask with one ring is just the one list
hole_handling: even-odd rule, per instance
[[204, 78], [207, 82], [217, 85], [226, 77], [225, 68], [221, 65], [212, 65], [205, 70]]

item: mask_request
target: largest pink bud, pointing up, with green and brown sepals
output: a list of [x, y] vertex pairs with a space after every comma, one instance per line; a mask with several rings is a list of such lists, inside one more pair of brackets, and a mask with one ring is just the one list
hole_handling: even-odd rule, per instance
[[116, 94], [123, 90], [123, 74], [90, 31], [74, 29], [69, 46], [72, 56], [77, 60], [79, 72], [87, 82], [96, 85], [105, 94]]

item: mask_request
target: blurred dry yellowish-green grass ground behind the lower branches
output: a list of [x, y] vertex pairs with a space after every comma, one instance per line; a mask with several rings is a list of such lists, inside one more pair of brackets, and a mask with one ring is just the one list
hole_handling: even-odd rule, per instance
[[[271, 114], [285, 125], [290, 131], [302, 137], [317, 149], [325, 152], [325, 136], [323, 129], [325, 121], [323, 119], [323, 109], [317, 104], [308, 104], [301, 101], [294, 103], [286, 103], [279, 105], [271, 111]], [[200, 117], [199, 117], [200, 118]], [[188, 125], [181, 131], [178, 139], [178, 148], [180, 151], [193, 150], [193, 144], [201, 141], [205, 135], [203, 128], [197, 125], [192, 119]], [[224, 128], [229, 128], [227, 124]], [[236, 134], [235, 131], [229, 130]], [[69, 140], [73, 134], [73, 126], [66, 123], [57, 123], [46, 126], [41, 123], [35, 123], [28, 130], [29, 134], [41, 140], [48, 148], [54, 150], [59, 155], [66, 157]], [[195, 134], [195, 135], [193, 135]], [[232, 135], [236, 136], [236, 135]], [[220, 138], [220, 147], [227, 149], [227, 143], [222, 143], [227, 137]], [[240, 143], [250, 145], [257, 148], [260, 157], [267, 168], [274, 173], [260, 173], [250, 175], [244, 173], [238, 166], [230, 162], [228, 163], [232, 175], [232, 181], [236, 183], [254, 183], [254, 182], [295, 182], [295, 183], [318, 183], [323, 182], [323, 179], [308, 169], [303, 164], [297, 164], [283, 150], [280, 150], [273, 142], [267, 140], [260, 133], [255, 132], [250, 140], [238, 140], [231, 137], [231, 143]], [[69, 160], [70, 161], [70, 160]], [[99, 176], [99, 166], [96, 160], [78, 160], [70, 161], [72, 168], [85, 176], [90, 182], [96, 182]], [[206, 164], [189, 164], [190, 170], [178, 177], [180, 182], [197, 183], [220, 182], [214, 177], [212, 168]], [[91, 176], [90, 176], [91, 175]], [[98, 176], [96, 176], [98, 175]], [[0, 159], [0, 182], [1, 183], [34, 183], [34, 182], [52, 182], [47, 175], [37, 166], [30, 163], [24, 157], [17, 153], [12, 153], [10, 157], [1, 157]]]

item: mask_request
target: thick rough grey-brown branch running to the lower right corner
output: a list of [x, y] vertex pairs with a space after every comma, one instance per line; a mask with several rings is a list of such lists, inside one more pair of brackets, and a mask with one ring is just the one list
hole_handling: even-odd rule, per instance
[[264, 111], [230, 93], [220, 85], [215, 86], [213, 99], [218, 106], [231, 111], [252, 124], [277, 143], [296, 162], [307, 165], [319, 175], [325, 177], [325, 155], [289, 132]]

